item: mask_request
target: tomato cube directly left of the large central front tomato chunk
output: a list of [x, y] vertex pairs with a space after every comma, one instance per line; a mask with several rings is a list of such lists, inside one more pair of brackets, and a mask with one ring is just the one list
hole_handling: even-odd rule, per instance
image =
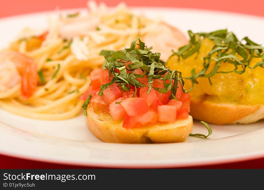
[[109, 105], [110, 115], [114, 121], [122, 120], [126, 115], [124, 107], [121, 104], [116, 104], [116, 102], [121, 102], [124, 99], [125, 98], [118, 98]]

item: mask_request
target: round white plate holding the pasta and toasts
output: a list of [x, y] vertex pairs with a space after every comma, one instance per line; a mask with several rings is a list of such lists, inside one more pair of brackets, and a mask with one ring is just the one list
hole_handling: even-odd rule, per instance
[[[187, 31], [228, 28], [239, 38], [249, 36], [264, 44], [264, 18], [191, 9], [134, 8]], [[50, 14], [50, 13], [49, 13]], [[48, 13], [28, 14], [0, 20], [1, 48], [25, 26], [46, 26]], [[162, 32], [162, 29], [161, 29]], [[211, 125], [207, 139], [188, 137], [185, 143], [103, 143], [91, 134], [80, 115], [64, 121], [23, 118], [0, 110], [0, 153], [56, 163], [102, 167], [182, 167], [217, 164], [264, 156], [264, 121], [250, 125]], [[194, 122], [193, 132], [206, 133]]]

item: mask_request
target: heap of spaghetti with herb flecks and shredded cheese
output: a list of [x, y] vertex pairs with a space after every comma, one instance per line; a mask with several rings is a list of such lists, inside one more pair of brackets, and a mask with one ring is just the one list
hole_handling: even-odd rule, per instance
[[132, 14], [124, 5], [114, 12], [104, 4], [88, 2], [88, 6], [89, 11], [59, 14], [50, 19], [48, 29], [41, 35], [32, 35], [32, 30], [27, 29], [10, 44], [8, 50], [34, 60], [38, 84], [28, 98], [21, 96], [21, 83], [5, 90], [0, 88], [1, 108], [34, 119], [62, 120], [76, 116], [84, 102], [78, 98], [90, 85], [91, 70], [103, 64], [100, 51], [130, 47], [135, 38], [144, 37], [160, 26], [159, 20]]

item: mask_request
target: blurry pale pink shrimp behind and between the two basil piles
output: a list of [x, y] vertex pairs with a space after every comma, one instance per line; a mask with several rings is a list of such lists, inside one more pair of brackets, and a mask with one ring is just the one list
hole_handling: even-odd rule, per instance
[[150, 29], [140, 38], [146, 46], [152, 46], [152, 52], [161, 53], [161, 59], [167, 61], [172, 50], [188, 44], [186, 36], [177, 28], [165, 22], [160, 23], [159, 28]]

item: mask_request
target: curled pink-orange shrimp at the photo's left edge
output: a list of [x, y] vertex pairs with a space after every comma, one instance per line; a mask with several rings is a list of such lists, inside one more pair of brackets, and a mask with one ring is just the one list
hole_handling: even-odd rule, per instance
[[29, 98], [36, 89], [37, 77], [37, 67], [32, 58], [16, 51], [0, 53], [0, 92], [20, 82], [22, 98]]

